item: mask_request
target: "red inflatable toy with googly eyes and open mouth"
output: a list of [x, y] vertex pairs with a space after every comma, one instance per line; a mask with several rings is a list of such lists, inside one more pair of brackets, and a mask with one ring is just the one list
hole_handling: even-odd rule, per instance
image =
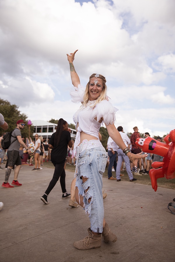
[[[168, 140], [169, 137], [171, 142]], [[167, 144], [151, 137], [136, 139], [136, 145], [140, 146], [143, 152], [163, 156], [163, 161], [153, 162], [151, 165], [153, 169], [150, 169], [149, 171], [154, 191], [157, 190], [157, 178], [175, 178], [175, 129], [170, 131], [170, 133], [164, 138], [164, 141]]]

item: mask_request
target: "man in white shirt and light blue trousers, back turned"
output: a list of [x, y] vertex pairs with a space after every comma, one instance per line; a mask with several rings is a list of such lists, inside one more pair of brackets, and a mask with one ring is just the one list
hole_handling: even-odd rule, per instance
[[[119, 131], [119, 133], [120, 133], [120, 135], [121, 135], [121, 137], [123, 139], [123, 142], [129, 148], [129, 145], [131, 144], [131, 141], [130, 141], [129, 137], [127, 136], [127, 134], [125, 134], [123, 132], [122, 126], [118, 126], [117, 130]], [[116, 179], [117, 179], [117, 182], [121, 181], [120, 168], [121, 168], [123, 160], [125, 161], [126, 171], [127, 171], [128, 176], [129, 176], [129, 180], [131, 182], [137, 180], [132, 175], [130, 161], [129, 161], [129, 158], [127, 157], [127, 155], [125, 155], [123, 153], [122, 149], [119, 148], [119, 147], [118, 147], [118, 152], [117, 153], [118, 153], [118, 161], [117, 161], [117, 168], [116, 168]]]

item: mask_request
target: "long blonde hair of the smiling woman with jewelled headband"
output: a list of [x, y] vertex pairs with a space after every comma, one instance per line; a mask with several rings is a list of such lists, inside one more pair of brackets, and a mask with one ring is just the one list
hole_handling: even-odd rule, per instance
[[92, 78], [96, 78], [96, 79], [99, 78], [99, 79], [101, 79], [102, 80], [102, 84], [103, 84], [103, 90], [102, 90], [100, 96], [97, 98], [97, 100], [96, 100], [95, 104], [93, 105], [93, 107], [95, 105], [97, 105], [97, 103], [101, 102], [102, 100], [108, 100], [107, 95], [106, 95], [106, 93], [107, 93], [106, 78], [103, 75], [100, 75], [100, 74], [98, 75], [98, 77], [95, 77], [95, 75], [97, 75], [97, 74], [92, 74], [89, 77], [89, 82], [86, 85], [85, 93], [84, 93], [84, 96], [83, 96], [83, 105], [86, 105], [88, 103], [88, 101], [89, 101], [89, 84], [90, 84], [90, 80]]

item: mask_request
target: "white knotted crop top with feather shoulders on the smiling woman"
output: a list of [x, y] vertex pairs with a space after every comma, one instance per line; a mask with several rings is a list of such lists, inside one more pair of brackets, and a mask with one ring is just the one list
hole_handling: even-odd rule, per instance
[[[78, 88], [73, 87], [71, 89], [70, 95], [72, 98], [72, 102], [83, 102], [83, 95], [84, 95], [85, 88], [79, 84]], [[80, 143], [80, 132], [83, 131], [85, 134], [92, 135], [99, 139], [99, 129], [101, 127], [101, 123], [99, 120], [103, 117], [106, 125], [112, 124], [115, 122], [115, 111], [118, 111], [112, 104], [107, 101], [103, 100], [99, 102], [95, 107], [96, 100], [88, 101], [88, 103], [81, 107], [76, 111], [73, 116], [74, 123], [78, 124], [76, 139], [74, 143], [74, 155], [76, 152], [76, 147]], [[95, 120], [97, 118], [97, 120]]]

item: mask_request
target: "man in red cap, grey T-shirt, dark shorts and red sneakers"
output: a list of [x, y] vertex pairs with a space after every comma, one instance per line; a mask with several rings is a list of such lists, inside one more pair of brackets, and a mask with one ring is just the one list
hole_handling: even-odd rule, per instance
[[[22, 141], [22, 136], [21, 136], [21, 130], [24, 129], [25, 121], [20, 119], [16, 122], [16, 125], [17, 125], [16, 128], [11, 133], [10, 146], [8, 147], [8, 167], [5, 173], [5, 180], [2, 184], [2, 187], [6, 187], [6, 188], [14, 187], [12, 185], [16, 185], [16, 186], [22, 185], [17, 181], [17, 177], [22, 164], [21, 157], [19, 155], [20, 145], [22, 145], [27, 150], [27, 152], [31, 154], [30, 149], [27, 148], [26, 144]], [[14, 180], [11, 183], [12, 185], [10, 185], [8, 183], [8, 179], [14, 165], [16, 165], [14, 170]]]

